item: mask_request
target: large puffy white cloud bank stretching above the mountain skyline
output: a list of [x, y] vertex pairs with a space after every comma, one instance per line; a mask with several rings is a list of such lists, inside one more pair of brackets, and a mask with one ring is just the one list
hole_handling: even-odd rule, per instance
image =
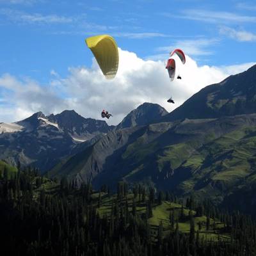
[[[158, 103], [172, 111], [208, 84], [218, 83], [231, 74], [242, 72], [254, 63], [229, 67], [198, 66], [186, 56], [186, 65], [179, 65], [182, 80], [170, 82], [164, 61], [142, 60], [135, 53], [119, 49], [120, 65], [115, 79], [106, 80], [97, 62], [91, 68], [69, 68], [67, 77], [51, 71], [52, 80], [42, 86], [31, 79], [20, 81], [0, 76], [0, 120], [20, 120], [36, 111], [45, 114], [74, 109], [84, 117], [100, 118], [100, 111], [113, 113], [109, 124], [118, 124], [129, 111], [143, 102]], [[177, 59], [177, 63], [179, 60]], [[168, 104], [172, 95], [175, 104]]]

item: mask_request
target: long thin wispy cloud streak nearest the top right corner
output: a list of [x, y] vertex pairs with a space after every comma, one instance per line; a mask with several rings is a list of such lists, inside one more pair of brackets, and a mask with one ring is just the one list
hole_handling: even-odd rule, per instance
[[[169, 13], [162, 13], [170, 16]], [[171, 16], [180, 19], [198, 20], [212, 23], [240, 23], [240, 22], [256, 22], [256, 16], [239, 15], [232, 12], [215, 12], [202, 9], [188, 9], [182, 12], [182, 15]]]

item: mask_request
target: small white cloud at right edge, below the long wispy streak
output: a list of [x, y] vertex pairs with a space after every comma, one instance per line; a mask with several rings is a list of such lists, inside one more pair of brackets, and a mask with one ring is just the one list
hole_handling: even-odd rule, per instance
[[241, 42], [256, 41], [256, 35], [245, 30], [236, 30], [223, 26], [220, 28], [220, 33]]

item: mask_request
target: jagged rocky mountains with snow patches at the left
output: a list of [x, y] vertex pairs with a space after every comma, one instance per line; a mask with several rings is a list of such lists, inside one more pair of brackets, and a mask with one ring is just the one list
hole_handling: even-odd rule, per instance
[[77, 144], [111, 129], [105, 121], [84, 118], [74, 110], [49, 116], [38, 112], [19, 122], [0, 123], [0, 159], [48, 170]]

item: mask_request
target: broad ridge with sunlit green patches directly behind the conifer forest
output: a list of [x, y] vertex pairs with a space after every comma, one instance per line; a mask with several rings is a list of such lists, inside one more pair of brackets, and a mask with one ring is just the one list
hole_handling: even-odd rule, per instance
[[179, 195], [195, 193], [221, 202], [255, 181], [256, 115], [151, 124], [111, 132], [52, 175], [143, 182]]

